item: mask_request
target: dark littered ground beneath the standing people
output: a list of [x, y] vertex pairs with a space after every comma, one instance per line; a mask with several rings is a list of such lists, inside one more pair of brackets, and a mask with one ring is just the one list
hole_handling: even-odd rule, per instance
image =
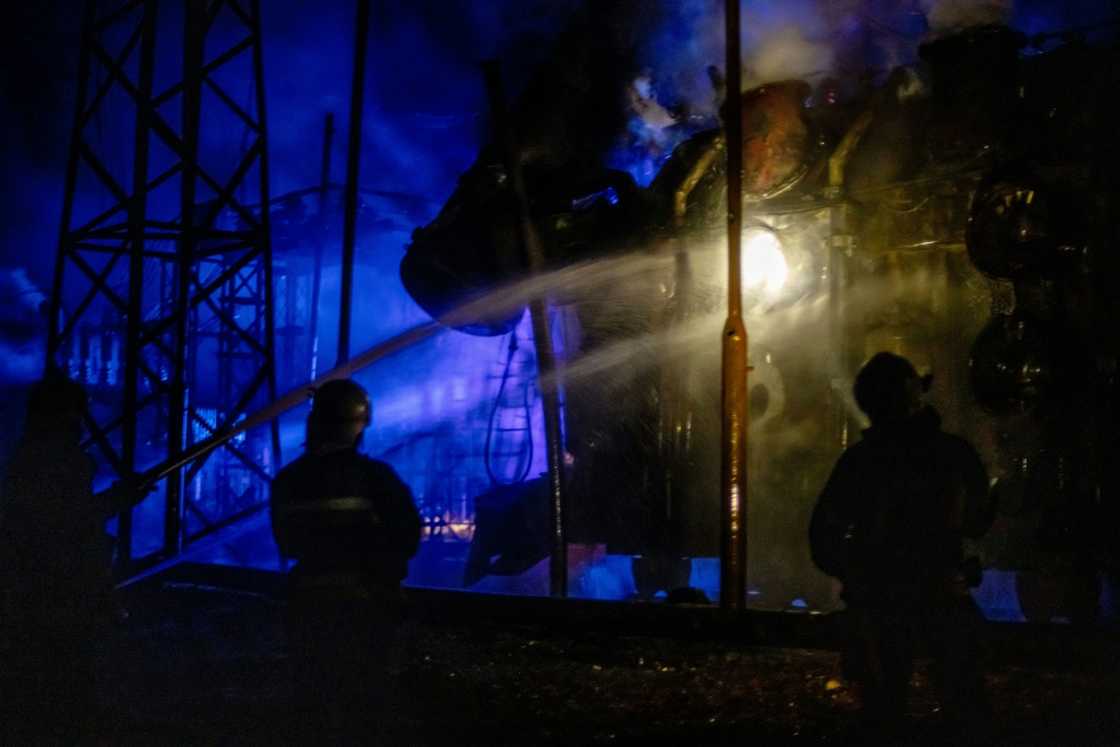
[[[801, 645], [801, 623], [736, 635], [711, 624], [711, 610], [699, 610], [703, 624], [688, 609], [651, 624], [657, 610], [627, 622], [619, 608], [636, 606], [614, 605], [610, 617], [589, 623], [594, 615], [577, 610], [584, 622], [569, 623], [508, 600], [487, 611], [419, 596], [388, 744], [866, 744], [851, 729], [857, 700], [838, 679], [839, 654]], [[105, 669], [103, 726], [90, 744], [291, 743], [277, 601], [165, 581], [127, 603], [118, 663]], [[991, 735], [943, 731], [922, 667], [909, 730], [892, 744], [1120, 745], [1114, 635], [1063, 632], [1055, 645], [1053, 632], [1017, 628], [995, 636]]]

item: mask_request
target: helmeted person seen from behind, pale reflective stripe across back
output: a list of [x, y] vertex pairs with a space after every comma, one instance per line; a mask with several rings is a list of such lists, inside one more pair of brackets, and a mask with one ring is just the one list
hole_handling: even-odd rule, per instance
[[288, 638], [305, 744], [366, 744], [382, 728], [401, 581], [420, 516], [392, 467], [358, 452], [371, 421], [349, 380], [315, 392], [305, 454], [272, 483], [288, 577]]

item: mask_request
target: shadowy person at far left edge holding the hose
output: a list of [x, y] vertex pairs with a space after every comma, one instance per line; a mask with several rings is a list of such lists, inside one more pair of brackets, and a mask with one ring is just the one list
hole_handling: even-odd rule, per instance
[[73, 744], [95, 728], [95, 666], [119, 607], [105, 522], [147, 491], [93, 493], [81, 385], [52, 370], [28, 396], [0, 493], [0, 692], [4, 744]]

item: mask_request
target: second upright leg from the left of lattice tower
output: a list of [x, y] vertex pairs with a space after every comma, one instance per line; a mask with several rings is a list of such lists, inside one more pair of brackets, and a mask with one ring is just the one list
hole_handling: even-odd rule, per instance
[[[149, 108], [151, 106], [152, 75], [156, 67], [156, 10], [157, 0], [143, 3], [143, 25], [140, 41], [140, 69], [136, 142], [132, 160], [132, 200], [129, 204], [129, 295], [128, 326], [124, 348], [124, 412], [121, 461], [125, 471], [136, 471], [139, 411], [138, 379], [140, 373], [140, 337], [143, 314], [143, 249], [148, 211], [148, 152], [151, 138]], [[132, 510], [121, 512], [116, 526], [118, 560], [128, 566], [132, 561]]]

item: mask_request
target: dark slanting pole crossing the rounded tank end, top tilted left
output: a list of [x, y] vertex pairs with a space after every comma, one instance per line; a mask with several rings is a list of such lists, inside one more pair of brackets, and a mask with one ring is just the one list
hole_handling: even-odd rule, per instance
[[[521, 170], [513, 128], [505, 112], [505, 94], [502, 86], [502, 71], [489, 60], [483, 64], [486, 90], [489, 94], [494, 131], [502, 148], [506, 172], [513, 185], [521, 222], [521, 237], [529, 262], [530, 272], [540, 272], [544, 267], [544, 249], [529, 211], [529, 195]], [[548, 304], [535, 298], [529, 304], [533, 324], [533, 344], [536, 348], [538, 381], [556, 381], [556, 353], [552, 349], [552, 332], [549, 329]], [[549, 557], [549, 592], [553, 597], [568, 596], [568, 539], [564, 526], [563, 488], [563, 441], [560, 435], [560, 393], [554, 385], [541, 390], [541, 405], [544, 410], [544, 445], [549, 468], [549, 534], [551, 554]]]

